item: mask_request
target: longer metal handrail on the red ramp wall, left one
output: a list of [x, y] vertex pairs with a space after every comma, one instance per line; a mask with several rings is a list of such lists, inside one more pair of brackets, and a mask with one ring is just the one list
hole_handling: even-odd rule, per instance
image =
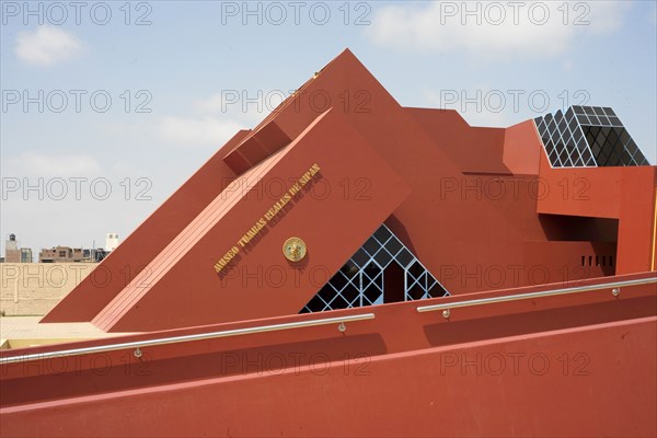
[[[48, 358], [53, 358], [53, 357], [79, 356], [79, 355], [88, 355], [88, 354], [93, 354], [93, 353], [114, 351], [117, 349], [125, 349], [125, 348], [139, 349], [140, 347], [151, 347], [151, 346], [155, 346], [155, 345], [177, 344], [177, 343], [183, 343], [183, 342], [212, 339], [212, 338], [217, 338], [217, 337], [240, 336], [240, 335], [249, 335], [249, 334], [254, 334], [254, 333], [276, 332], [276, 331], [281, 331], [281, 330], [290, 330], [290, 328], [312, 327], [312, 326], [318, 326], [318, 325], [327, 325], [327, 324], [335, 324], [335, 323], [342, 324], [345, 322], [365, 321], [365, 320], [373, 320], [373, 319], [374, 319], [373, 313], [362, 313], [362, 314], [349, 315], [349, 316], [325, 318], [323, 320], [289, 322], [289, 323], [285, 323], [285, 324], [261, 325], [261, 326], [255, 326], [255, 327], [226, 330], [226, 331], [221, 331], [221, 332], [198, 333], [195, 335], [162, 337], [159, 339], [148, 339], [148, 341], [135, 341], [135, 342], [127, 342], [127, 343], [122, 343], [122, 344], [99, 345], [95, 347], [72, 348], [72, 349], [65, 349], [65, 350], [59, 350], [59, 351], [35, 353], [32, 355], [2, 357], [2, 358], [0, 358], [0, 365], [14, 364], [14, 362], [20, 362], [20, 361], [25, 361], [25, 360], [48, 359]], [[343, 327], [341, 327], [341, 331], [343, 331]], [[141, 355], [141, 354], [139, 353], [139, 355]]]

